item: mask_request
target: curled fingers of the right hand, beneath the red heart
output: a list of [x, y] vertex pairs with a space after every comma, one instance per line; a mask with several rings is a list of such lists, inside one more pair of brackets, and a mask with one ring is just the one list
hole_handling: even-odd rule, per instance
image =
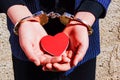
[[71, 61], [72, 61], [73, 52], [71, 50], [67, 50], [66, 53], [62, 55], [61, 62], [57, 63], [48, 63], [43, 66], [44, 71], [53, 71], [53, 72], [61, 72], [67, 71], [72, 68]]

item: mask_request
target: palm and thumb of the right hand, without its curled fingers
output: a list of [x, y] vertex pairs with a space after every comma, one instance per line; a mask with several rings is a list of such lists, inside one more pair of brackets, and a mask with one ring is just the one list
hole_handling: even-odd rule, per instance
[[70, 38], [70, 49], [74, 52], [72, 65], [75, 66], [81, 61], [88, 49], [89, 39], [87, 28], [83, 25], [67, 26], [65, 32]]

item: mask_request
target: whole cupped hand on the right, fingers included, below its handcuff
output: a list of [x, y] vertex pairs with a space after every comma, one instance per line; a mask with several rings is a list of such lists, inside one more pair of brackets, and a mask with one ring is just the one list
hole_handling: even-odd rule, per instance
[[[61, 62], [53, 64], [48, 63], [45, 66], [43, 66], [44, 71], [67, 71], [72, 67], [76, 66], [86, 54], [89, 39], [88, 31], [85, 26], [67, 26], [63, 32], [65, 32], [70, 38], [69, 50], [66, 51], [66, 54], [64, 54], [65, 56], [62, 57]], [[66, 58], [69, 58], [70, 62], [65, 62]]]

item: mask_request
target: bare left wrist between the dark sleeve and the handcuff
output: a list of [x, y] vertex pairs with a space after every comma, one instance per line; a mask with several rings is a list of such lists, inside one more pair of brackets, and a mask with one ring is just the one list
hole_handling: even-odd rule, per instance
[[7, 15], [15, 24], [26, 16], [32, 16], [32, 13], [25, 5], [13, 5], [8, 9]]

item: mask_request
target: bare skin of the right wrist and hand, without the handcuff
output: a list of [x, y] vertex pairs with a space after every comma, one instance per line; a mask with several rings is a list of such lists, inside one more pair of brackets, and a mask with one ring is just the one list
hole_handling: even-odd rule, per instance
[[[90, 26], [93, 25], [95, 21], [95, 17], [93, 14], [89, 12], [78, 12], [75, 15], [76, 18], [80, 18], [86, 21]], [[71, 24], [76, 24], [78, 22], [71, 21]], [[67, 63], [54, 63], [54, 64], [46, 64], [43, 68], [44, 71], [67, 71], [72, 67], [76, 66], [79, 61], [81, 61], [88, 49], [89, 46], [89, 38], [87, 28], [83, 25], [73, 25], [66, 26], [64, 31], [70, 38], [70, 48], [67, 51], [69, 57], [71, 59], [70, 62]]]

